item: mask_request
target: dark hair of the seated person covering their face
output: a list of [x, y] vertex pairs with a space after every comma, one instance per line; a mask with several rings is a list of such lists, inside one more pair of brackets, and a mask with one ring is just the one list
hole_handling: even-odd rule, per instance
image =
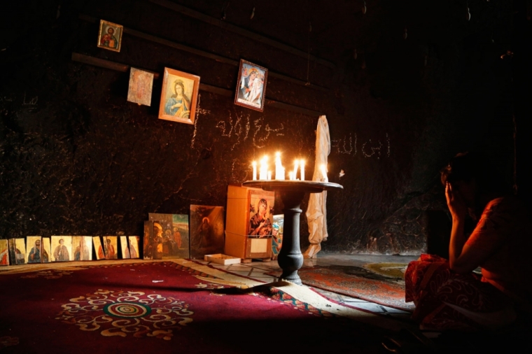
[[459, 153], [441, 170], [442, 184], [459, 180], [470, 182], [475, 179], [479, 190], [485, 192], [507, 192], [505, 180], [493, 162], [479, 153]]

